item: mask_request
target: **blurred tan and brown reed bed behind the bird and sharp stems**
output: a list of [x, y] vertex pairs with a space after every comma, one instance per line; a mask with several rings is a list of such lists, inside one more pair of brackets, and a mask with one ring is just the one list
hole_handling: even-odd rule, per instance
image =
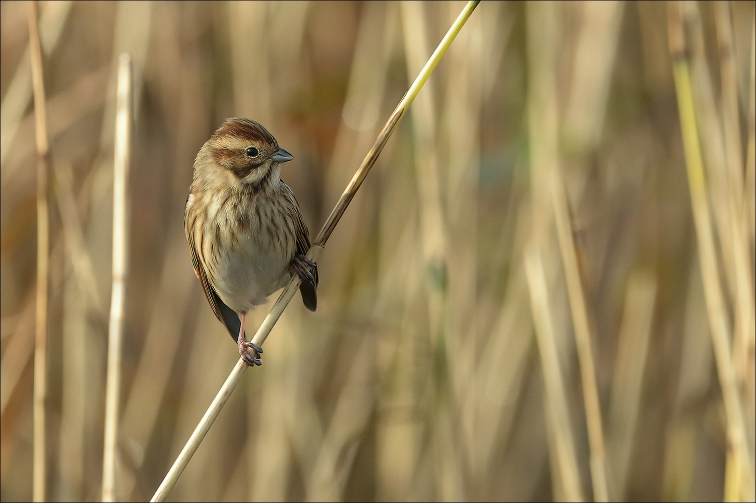
[[[195, 154], [226, 117], [258, 120], [295, 155], [283, 179], [317, 234], [463, 5], [40, 3], [48, 499], [101, 498], [119, 54], [135, 129], [116, 487], [144, 501], [238, 359], [184, 238]], [[321, 254], [318, 312], [297, 294], [169, 499], [753, 501], [754, 3], [681, 7], [713, 256], [668, 5], [482, 2]], [[33, 479], [28, 10], [0, 4], [2, 501]]]

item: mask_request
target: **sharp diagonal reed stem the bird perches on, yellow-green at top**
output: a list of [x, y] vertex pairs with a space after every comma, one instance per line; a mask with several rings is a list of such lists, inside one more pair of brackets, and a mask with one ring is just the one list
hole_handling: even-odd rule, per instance
[[[389, 120], [386, 121], [386, 125], [383, 126], [383, 129], [378, 135], [378, 138], [376, 138], [376, 141], [373, 143], [373, 147], [371, 147], [370, 151], [367, 152], [367, 155], [364, 157], [364, 160], [362, 161], [360, 167], [357, 169], [357, 172], [355, 172], [355, 175], [352, 177], [349, 185], [347, 185], [344, 189], [341, 197], [339, 197], [339, 200], [336, 202], [336, 206], [334, 206], [330, 215], [326, 219], [326, 222], [323, 224], [320, 232], [318, 232], [318, 236], [314, 239], [314, 243], [307, 253], [307, 258], [311, 261], [314, 262], [318, 259], [318, 256], [320, 256], [321, 251], [326, 244], [326, 241], [328, 241], [328, 238], [330, 238], [330, 234], [333, 232], [333, 229], [336, 228], [336, 224], [339, 223], [339, 220], [344, 214], [346, 207], [349, 206], [349, 203], [352, 202], [355, 194], [357, 194], [357, 191], [360, 188], [360, 185], [362, 185], [362, 182], [364, 182], [367, 173], [370, 172], [370, 168], [372, 168], [376, 163], [378, 156], [380, 156], [381, 151], [383, 151], [383, 147], [386, 146], [386, 142], [389, 141], [389, 138], [391, 137], [392, 132], [394, 132], [396, 125], [401, 120], [401, 117], [404, 116], [404, 113], [407, 112], [410, 105], [412, 104], [412, 101], [414, 101], [415, 97], [417, 96], [417, 93], [420, 92], [420, 89], [423, 88], [423, 85], [428, 80], [431, 73], [433, 73], [433, 70], [435, 70], [438, 61], [441, 61], [441, 58], [444, 56], [446, 50], [451, 45], [451, 42], [454, 42], [454, 38], [457, 36], [457, 33], [460, 32], [460, 29], [462, 29], [462, 26], [464, 26], [467, 19], [470, 17], [470, 14], [472, 14], [472, 11], [475, 10], [479, 3], [479, 0], [467, 2], [465, 8], [463, 8], [457, 19], [454, 20], [451, 28], [449, 28], [442, 41], [438, 44], [438, 47], [435, 48], [435, 51], [433, 51], [433, 54], [431, 54], [431, 56], [429, 57], [425, 66], [423, 67], [423, 70], [420, 70], [420, 74], [416, 79], [414, 79], [414, 82], [412, 82], [412, 85], [407, 90], [407, 92], [404, 93], [404, 97], [401, 98], [401, 101], [399, 101], [399, 104], [396, 106], [394, 112], [391, 114], [391, 116], [389, 116]], [[289, 284], [287, 284], [287, 286], [283, 288], [283, 291], [280, 293], [280, 296], [274, 303], [271, 311], [267, 316], [265, 316], [262, 324], [260, 324], [260, 328], [257, 330], [255, 336], [252, 339], [253, 343], [256, 343], [258, 346], [262, 346], [262, 343], [265, 342], [265, 339], [268, 337], [268, 334], [271, 333], [271, 330], [276, 324], [276, 321], [278, 321], [278, 318], [280, 318], [280, 315], [283, 313], [283, 309], [286, 309], [286, 306], [289, 304], [292, 297], [294, 297], [294, 293], [296, 292], [297, 287], [299, 287], [301, 281], [302, 280], [299, 278], [299, 275], [294, 275]], [[184, 449], [181, 449], [181, 453], [174, 461], [171, 469], [169, 470], [168, 474], [166, 474], [163, 482], [160, 483], [160, 487], [158, 487], [150, 501], [163, 501], [169, 494], [173, 486], [175, 486], [178, 477], [181, 476], [181, 472], [184, 471], [184, 468], [189, 463], [189, 460], [191, 459], [192, 455], [194, 455], [194, 452], [197, 451], [197, 447], [200, 446], [200, 442], [202, 442], [206, 433], [209, 431], [212, 423], [215, 421], [215, 418], [218, 417], [218, 414], [223, 408], [223, 405], [225, 405], [225, 403], [228, 401], [228, 398], [231, 396], [231, 393], [233, 393], [234, 388], [237, 387], [237, 384], [241, 379], [241, 375], [243, 371], [246, 370], [246, 368], [247, 365], [243, 362], [242, 359], [239, 359], [237, 364], [234, 366], [234, 369], [231, 371], [231, 374], [229, 374], [229, 376], [225, 380], [225, 383], [223, 383], [223, 386], [218, 391], [215, 399], [213, 399], [210, 407], [205, 412], [205, 415], [203, 415], [200, 423], [197, 424], [194, 433], [192, 433], [187, 440], [186, 445], [184, 445]]]

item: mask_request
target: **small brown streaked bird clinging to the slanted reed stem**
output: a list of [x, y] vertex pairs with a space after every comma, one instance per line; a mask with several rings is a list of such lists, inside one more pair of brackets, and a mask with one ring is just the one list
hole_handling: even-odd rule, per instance
[[293, 158], [259, 123], [236, 117], [194, 160], [184, 209], [194, 272], [249, 366], [262, 365], [262, 349], [244, 333], [250, 309], [268, 302], [293, 274], [302, 278], [305, 307], [318, 306], [318, 266], [305, 257], [310, 235], [299, 203], [280, 179], [281, 163]]

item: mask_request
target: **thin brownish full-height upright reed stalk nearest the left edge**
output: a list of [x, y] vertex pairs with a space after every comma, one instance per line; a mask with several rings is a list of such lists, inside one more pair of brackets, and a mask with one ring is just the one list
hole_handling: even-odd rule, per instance
[[50, 216], [48, 210], [50, 145], [37, 2], [29, 3], [29, 49], [32, 59], [34, 122], [37, 144], [37, 298], [34, 344], [33, 498], [34, 501], [45, 501], [47, 492], [45, 399], [47, 398], [48, 277], [50, 269]]

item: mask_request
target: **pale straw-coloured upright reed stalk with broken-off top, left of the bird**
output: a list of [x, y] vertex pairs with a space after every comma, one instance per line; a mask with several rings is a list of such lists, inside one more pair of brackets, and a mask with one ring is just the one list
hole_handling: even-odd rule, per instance
[[118, 67], [115, 160], [113, 163], [113, 291], [107, 340], [105, 442], [102, 501], [116, 501], [121, 340], [129, 250], [129, 160], [132, 135], [132, 59], [121, 54]]

